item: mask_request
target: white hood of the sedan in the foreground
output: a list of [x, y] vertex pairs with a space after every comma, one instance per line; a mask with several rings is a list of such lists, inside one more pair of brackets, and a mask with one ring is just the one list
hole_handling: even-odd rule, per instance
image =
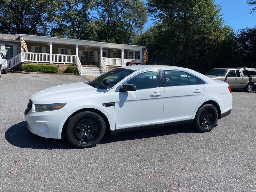
[[84, 82], [58, 85], [36, 92], [30, 97], [33, 104], [65, 103], [68, 100], [85, 98], [105, 90], [96, 89]]

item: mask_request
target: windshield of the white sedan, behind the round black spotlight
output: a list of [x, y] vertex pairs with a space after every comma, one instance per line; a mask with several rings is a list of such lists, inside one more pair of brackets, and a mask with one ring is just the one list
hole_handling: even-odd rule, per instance
[[131, 69], [115, 68], [111, 71], [108, 71], [107, 73], [104, 73], [101, 76], [98, 76], [94, 80], [87, 82], [87, 84], [99, 89], [106, 89], [106, 87], [102, 83], [104, 79], [108, 79], [110, 81], [109, 87], [113, 87], [119, 81], [124, 79], [124, 77], [130, 75], [133, 72], [134, 71]]

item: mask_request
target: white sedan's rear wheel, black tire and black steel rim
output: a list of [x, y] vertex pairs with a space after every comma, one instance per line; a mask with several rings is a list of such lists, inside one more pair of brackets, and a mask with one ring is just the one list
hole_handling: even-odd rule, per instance
[[194, 126], [199, 132], [209, 132], [215, 127], [217, 120], [217, 108], [212, 104], [206, 104], [198, 109], [194, 120]]

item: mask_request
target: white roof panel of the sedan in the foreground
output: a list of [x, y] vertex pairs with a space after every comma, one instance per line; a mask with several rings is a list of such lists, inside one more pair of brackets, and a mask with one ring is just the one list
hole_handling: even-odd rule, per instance
[[129, 66], [122, 66], [119, 68], [124, 69], [131, 69], [134, 71], [144, 69], [144, 70], [150, 70], [150, 69], [178, 69], [178, 70], [188, 70], [187, 68], [183, 67], [177, 67], [177, 66], [170, 66], [170, 65], [129, 65]]

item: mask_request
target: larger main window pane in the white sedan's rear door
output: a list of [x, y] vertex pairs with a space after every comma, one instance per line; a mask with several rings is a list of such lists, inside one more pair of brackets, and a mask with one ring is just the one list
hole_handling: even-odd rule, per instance
[[166, 77], [166, 86], [188, 85], [188, 76], [183, 71], [164, 71]]

